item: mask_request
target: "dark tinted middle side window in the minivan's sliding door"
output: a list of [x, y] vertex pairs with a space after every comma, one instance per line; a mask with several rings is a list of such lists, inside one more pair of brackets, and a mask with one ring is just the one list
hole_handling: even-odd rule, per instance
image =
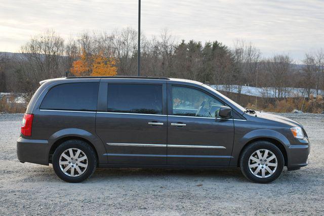
[[162, 85], [108, 84], [108, 112], [162, 114]]

